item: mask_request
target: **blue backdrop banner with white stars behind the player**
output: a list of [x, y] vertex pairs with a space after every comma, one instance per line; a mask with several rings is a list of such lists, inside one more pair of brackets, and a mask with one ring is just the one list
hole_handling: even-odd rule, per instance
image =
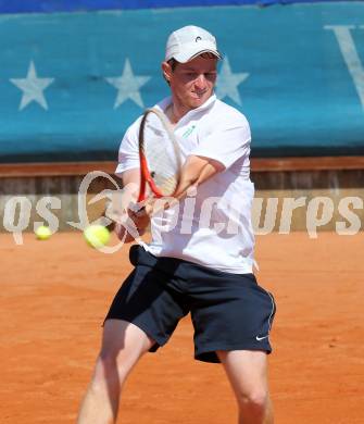
[[0, 162], [116, 159], [167, 96], [165, 40], [187, 24], [217, 37], [216, 93], [249, 119], [254, 155], [363, 154], [363, 16], [359, 2], [0, 15]]

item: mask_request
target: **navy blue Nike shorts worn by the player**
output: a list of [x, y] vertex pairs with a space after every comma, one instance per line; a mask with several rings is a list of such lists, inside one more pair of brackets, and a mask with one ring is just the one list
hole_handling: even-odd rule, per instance
[[230, 274], [175, 258], [155, 258], [140, 246], [129, 252], [135, 265], [105, 320], [125, 320], [163, 346], [178, 321], [191, 313], [194, 358], [219, 362], [216, 350], [271, 353], [276, 311], [272, 294], [253, 274]]

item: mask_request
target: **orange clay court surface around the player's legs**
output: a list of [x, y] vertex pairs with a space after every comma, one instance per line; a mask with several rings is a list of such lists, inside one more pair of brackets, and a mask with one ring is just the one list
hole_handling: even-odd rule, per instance
[[[103, 254], [78, 233], [24, 241], [0, 235], [0, 422], [74, 423], [101, 322], [130, 270], [127, 248]], [[258, 238], [258, 278], [278, 307], [269, 357], [277, 424], [364, 422], [363, 246], [363, 233]], [[120, 423], [235, 423], [221, 365], [193, 361], [192, 351], [186, 319], [137, 365]]]

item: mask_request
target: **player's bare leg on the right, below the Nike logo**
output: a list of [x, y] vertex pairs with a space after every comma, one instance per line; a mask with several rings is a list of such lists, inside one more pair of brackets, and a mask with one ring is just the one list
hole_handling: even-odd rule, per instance
[[263, 351], [217, 351], [239, 406], [239, 424], [273, 424]]

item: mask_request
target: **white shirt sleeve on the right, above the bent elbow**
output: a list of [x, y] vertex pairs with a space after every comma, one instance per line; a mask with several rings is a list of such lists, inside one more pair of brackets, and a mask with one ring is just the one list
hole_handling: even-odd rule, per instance
[[203, 137], [190, 154], [213, 159], [228, 169], [239, 158], [250, 154], [250, 127], [246, 120], [216, 128]]

